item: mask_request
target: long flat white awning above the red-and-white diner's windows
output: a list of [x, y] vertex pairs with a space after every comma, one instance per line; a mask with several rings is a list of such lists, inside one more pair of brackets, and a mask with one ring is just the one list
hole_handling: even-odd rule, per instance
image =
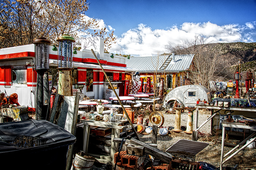
[[[58, 61], [54, 59], [50, 59], [50, 66], [58, 66]], [[139, 70], [135, 70], [128, 67], [118, 67], [118, 66], [108, 66], [108, 65], [101, 65], [104, 70], [116, 70], [116, 71], [125, 71], [125, 72], [136, 72]], [[98, 68], [101, 67], [98, 64], [91, 64], [91, 63], [81, 63], [81, 62], [74, 62], [74, 67], [84, 67], [84, 68]]]

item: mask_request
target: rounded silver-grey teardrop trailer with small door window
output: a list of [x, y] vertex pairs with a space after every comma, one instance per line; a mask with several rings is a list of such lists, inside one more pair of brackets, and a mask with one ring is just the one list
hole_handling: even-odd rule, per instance
[[196, 106], [198, 99], [210, 102], [210, 91], [204, 86], [195, 84], [179, 86], [165, 96], [163, 107], [172, 108], [176, 102], [180, 103], [181, 107]]

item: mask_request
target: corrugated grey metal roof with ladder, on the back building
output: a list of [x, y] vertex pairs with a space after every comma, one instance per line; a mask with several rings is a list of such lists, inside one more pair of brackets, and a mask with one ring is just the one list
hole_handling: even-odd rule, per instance
[[154, 72], [154, 71], [165, 71], [165, 72], [180, 72], [188, 70], [194, 54], [187, 55], [175, 55], [175, 63], [170, 62], [164, 70], [159, 70], [168, 55], [163, 56], [150, 56], [150, 57], [131, 57], [125, 59], [125, 64], [128, 68], [139, 70], [139, 72]]

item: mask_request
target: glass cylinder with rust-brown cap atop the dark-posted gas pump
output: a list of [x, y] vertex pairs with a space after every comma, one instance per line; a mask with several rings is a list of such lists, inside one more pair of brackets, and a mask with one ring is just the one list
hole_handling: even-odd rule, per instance
[[40, 37], [34, 41], [35, 44], [35, 69], [49, 69], [49, 45], [50, 41]]

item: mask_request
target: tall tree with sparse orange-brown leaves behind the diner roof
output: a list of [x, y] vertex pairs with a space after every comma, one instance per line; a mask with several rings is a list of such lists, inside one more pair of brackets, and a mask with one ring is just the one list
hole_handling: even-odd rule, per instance
[[78, 34], [102, 37], [105, 51], [116, 40], [106, 25], [100, 28], [86, 16], [86, 0], [0, 0], [0, 7], [0, 48], [31, 44], [42, 36], [55, 44], [64, 33], [76, 41]]

